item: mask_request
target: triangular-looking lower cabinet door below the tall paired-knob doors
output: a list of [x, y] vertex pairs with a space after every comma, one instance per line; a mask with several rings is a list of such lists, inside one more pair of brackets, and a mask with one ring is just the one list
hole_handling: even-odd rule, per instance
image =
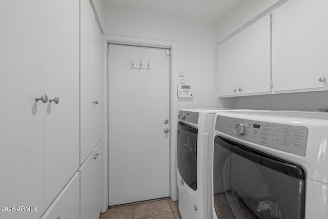
[[75, 173], [40, 219], [79, 218], [79, 173]]

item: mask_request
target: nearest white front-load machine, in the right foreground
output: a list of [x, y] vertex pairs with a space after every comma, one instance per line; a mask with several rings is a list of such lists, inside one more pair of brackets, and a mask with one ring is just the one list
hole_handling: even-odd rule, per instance
[[328, 218], [328, 113], [218, 112], [213, 218]]

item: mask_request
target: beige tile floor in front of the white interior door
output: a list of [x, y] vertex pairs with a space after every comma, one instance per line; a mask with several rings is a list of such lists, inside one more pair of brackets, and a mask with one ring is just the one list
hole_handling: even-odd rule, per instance
[[178, 202], [165, 200], [109, 208], [99, 219], [181, 219]]

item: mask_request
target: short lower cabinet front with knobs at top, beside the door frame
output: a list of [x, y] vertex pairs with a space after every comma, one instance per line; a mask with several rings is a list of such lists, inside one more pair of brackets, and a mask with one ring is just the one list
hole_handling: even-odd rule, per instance
[[98, 219], [101, 210], [102, 188], [101, 142], [79, 169], [81, 174], [81, 219]]

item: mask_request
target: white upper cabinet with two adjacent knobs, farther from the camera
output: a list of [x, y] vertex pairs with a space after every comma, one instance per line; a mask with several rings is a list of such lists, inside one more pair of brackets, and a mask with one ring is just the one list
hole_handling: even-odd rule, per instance
[[218, 46], [218, 96], [271, 92], [270, 14]]

